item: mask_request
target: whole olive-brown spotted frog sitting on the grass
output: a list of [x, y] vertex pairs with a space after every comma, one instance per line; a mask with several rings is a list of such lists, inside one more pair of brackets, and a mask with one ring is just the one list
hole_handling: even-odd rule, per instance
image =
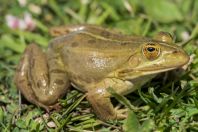
[[26, 47], [14, 79], [29, 102], [48, 112], [72, 86], [86, 95], [99, 119], [125, 119], [127, 108], [113, 106], [110, 88], [129, 94], [189, 61], [168, 32], [150, 38], [80, 24], [54, 27], [50, 34], [45, 51], [35, 43]]

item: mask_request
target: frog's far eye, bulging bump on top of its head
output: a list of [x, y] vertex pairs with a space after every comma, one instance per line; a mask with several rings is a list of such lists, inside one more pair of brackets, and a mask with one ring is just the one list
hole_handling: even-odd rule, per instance
[[170, 44], [173, 42], [173, 37], [168, 32], [159, 32], [154, 39]]

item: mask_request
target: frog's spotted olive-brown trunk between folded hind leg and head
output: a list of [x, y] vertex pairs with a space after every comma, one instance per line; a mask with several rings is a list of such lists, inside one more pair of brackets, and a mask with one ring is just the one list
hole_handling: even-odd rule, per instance
[[88, 32], [73, 32], [54, 41], [56, 45], [51, 46], [60, 49], [70, 78], [87, 82], [99, 81], [118, 69], [136, 47], [131, 46], [131, 41], [112, 40]]

